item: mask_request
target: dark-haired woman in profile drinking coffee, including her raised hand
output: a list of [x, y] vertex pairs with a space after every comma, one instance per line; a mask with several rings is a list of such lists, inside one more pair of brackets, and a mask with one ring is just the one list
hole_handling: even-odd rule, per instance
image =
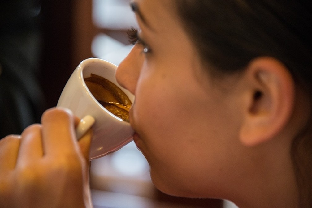
[[[311, 207], [310, 5], [135, 0], [131, 7], [140, 30], [129, 31], [135, 45], [116, 78], [136, 96], [130, 123], [155, 186], [175, 196], [229, 199], [240, 208]], [[51, 204], [41, 191], [49, 182], [38, 178], [57, 180], [62, 173], [68, 182], [73, 174], [65, 187], [78, 186], [76, 192], [59, 193], [50, 184], [49, 194], [55, 205], [90, 206], [82, 159], [90, 135], [77, 144], [74, 123], [70, 113], [52, 109], [21, 139], [5, 138], [1, 162], [13, 160], [7, 169], [15, 167], [0, 173], [7, 187], [31, 186], [39, 202]], [[34, 171], [29, 161], [42, 155], [41, 139], [44, 159]], [[41, 151], [27, 154], [29, 148]], [[14, 188], [1, 187], [1, 203], [4, 196], [32, 197]]]

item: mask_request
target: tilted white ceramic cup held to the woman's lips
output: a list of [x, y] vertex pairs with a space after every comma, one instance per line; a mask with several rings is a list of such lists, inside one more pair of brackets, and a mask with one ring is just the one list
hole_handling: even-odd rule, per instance
[[93, 138], [90, 147], [90, 160], [103, 157], [122, 148], [132, 141], [134, 130], [130, 124], [106, 110], [91, 94], [84, 78], [90, 74], [104, 77], [120, 87], [133, 102], [134, 95], [122, 88], [115, 79], [117, 66], [108, 61], [96, 58], [83, 60], [67, 81], [60, 99], [59, 107], [70, 109], [75, 116], [83, 118], [93, 116]]

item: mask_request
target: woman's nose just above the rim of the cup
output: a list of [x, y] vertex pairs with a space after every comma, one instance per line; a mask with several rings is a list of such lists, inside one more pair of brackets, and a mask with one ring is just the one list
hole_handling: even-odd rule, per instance
[[135, 45], [115, 72], [117, 82], [134, 94], [144, 56], [142, 49]]

